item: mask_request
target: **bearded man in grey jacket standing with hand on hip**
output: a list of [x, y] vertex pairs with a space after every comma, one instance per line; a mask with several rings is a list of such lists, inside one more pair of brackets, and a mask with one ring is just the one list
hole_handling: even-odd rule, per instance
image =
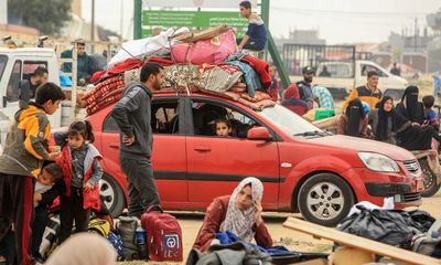
[[163, 83], [163, 67], [158, 63], [144, 64], [140, 82], [129, 84], [111, 110], [121, 131], [119, 161], [127, 174], [130, 216], [141, 218], [150, 205], [160, 204], [150, 162], [153, 142], [150, 120], [152, 92], [161, 89]]

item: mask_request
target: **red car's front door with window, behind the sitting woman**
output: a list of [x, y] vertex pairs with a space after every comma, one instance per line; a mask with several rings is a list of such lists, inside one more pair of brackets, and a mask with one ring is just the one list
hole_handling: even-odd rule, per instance
[[[194, 134], [186, 137], [190, 202], [205, 206], [216, 197], [230, 194], [246, 177], [256, 177], [265, 186], [263, 205], [276, 209], [279, 194], [277, 141], [237, 137], [237, 134], [246, 136], [249, 127], [265, 125], [241, 108], [207, 99], [194, 98], [192, 113]], [[214, 118], [234, 121], [236, 136], [214, 136], [209, 129], [214, 129]]]

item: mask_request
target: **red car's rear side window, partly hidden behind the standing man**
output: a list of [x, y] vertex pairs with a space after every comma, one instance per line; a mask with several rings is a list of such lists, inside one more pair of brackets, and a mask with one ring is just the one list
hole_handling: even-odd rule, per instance
[[[158, 100], [152, 103], [150, 123], [153, 134], [174, 135], [179, 132], [176, 100]], [[103, 123], [104, 132], [119, 132], [118, 124], [108, 115]]]

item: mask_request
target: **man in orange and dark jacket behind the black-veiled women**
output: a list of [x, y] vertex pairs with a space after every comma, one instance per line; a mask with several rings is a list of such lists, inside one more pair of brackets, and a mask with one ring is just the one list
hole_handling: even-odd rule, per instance
[[343, 112], [346, 109], [349, 102], [356, 97], [358, 97], [362, 102], [367, 103], [370, 109], [375, 109], [375, 105], [377, 105], [383, 97], [383, 93], [378, 88], [378, 73], [376, 71], [367, 72], [366, 85], [358, 86], [351, 92], [345, 104], [343, 104]]

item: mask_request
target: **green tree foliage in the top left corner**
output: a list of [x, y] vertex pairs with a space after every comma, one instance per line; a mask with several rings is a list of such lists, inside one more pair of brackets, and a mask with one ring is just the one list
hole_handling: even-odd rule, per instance
[[71, 20], [72, 0], [8, 0], [8, 20], [57, 35]]

